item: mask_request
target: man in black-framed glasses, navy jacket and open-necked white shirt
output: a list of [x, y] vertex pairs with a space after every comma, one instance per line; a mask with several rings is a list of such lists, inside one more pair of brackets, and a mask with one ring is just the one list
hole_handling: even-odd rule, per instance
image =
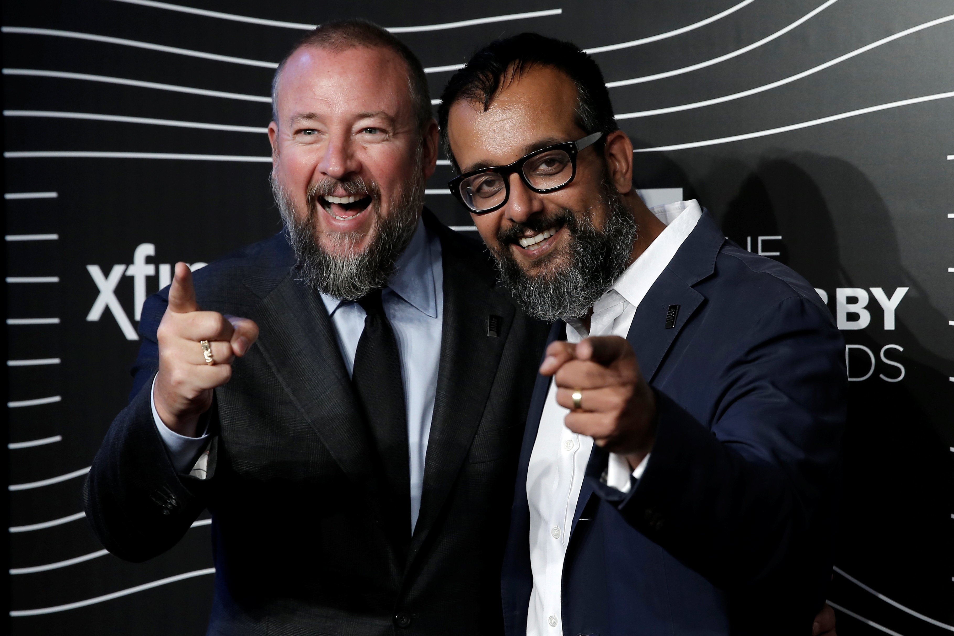
[[[694, 201], [650, 210], [602, 73], [524, 33], [440, 127], [501, 277], [552, 321], [504, 562], [508, 636], [802, 634], [830, 578], [843, 342]], [[830, 612], [830, 610], [828, 610]]]

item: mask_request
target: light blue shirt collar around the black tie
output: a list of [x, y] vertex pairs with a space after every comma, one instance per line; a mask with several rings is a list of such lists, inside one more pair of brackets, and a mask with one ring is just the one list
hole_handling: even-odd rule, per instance
[[[409, 305], [430, 318], [437, 318], [437, 290], [434, 286], [434, 261], [436, 256], [432, 249], [424, 219], [418, 219], [414, 236], [404, 249], [404, 254], [395, 263], [394, 274], [387, 281], [385, 290], [391, 290], [395, 295], [404, 299]], [[333, 315], [342, 304], [348, 302], [321, 292], [321, 300], [328, 310], [328, 316]]]

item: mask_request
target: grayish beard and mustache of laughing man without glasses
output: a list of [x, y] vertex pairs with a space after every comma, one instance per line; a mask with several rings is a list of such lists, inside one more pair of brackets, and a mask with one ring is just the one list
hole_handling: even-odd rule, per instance
[[[344, 248], [342, 254], [333, 254], [321, 245], [317, 215], [327, 214], [319, 203], [321, 195], [330, 195], [338, 182], [312, 183], [306, 196], [308, 215], [295, 214], [291, 197], [275, 178], [271, 178], [272, 193], [285, 223], [288, 242], [295, 251], [296, 272], [299, 280], [320, 292], [344, 300], [357, 300], [373, 289], [381, 289], [394, 274], [394, 266], [414, 236], [418, 218], [424, 208], [424, 173], [420, 153], [414, 174], [404, 184], [386, 217], [381, 215], [381, 193], [375, 183], [360, 179], [341, 185], [349, 194], [366, 192], [371, 203], [362, 214], [374, 215], [369, 230], [370, 240], [358, 254], [350, 250], [360, 243], [363, 233], [328, 233], [324, 237], [334, 246]], [[330, 186], [330, 187], [329, 187]]]

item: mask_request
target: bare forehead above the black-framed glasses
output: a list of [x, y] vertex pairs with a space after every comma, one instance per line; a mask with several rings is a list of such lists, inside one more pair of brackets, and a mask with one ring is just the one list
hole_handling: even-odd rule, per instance
[[577, 139], [576, 86], [551, 67], [533, 67], [507, 78], [489, 106], [460, 100], [447, 116], [447, 139], [461, 170], [504, 165], [560, 141]]

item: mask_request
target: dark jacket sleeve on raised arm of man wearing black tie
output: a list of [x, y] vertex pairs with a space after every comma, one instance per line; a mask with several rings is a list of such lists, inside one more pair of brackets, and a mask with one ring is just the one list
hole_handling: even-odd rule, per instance
[[[143, 307], [135, 393], [110, 426], [83, 489], [86, 516], [99, 541], [127, 561], [145, 561], [175, 545], [205, 507], [208, 488], [176, 473], [153, 419], [156, 329], [165, 305], [164, 298], [154, 296]], [[210, 417], [214, 427], [215, 407]]]

